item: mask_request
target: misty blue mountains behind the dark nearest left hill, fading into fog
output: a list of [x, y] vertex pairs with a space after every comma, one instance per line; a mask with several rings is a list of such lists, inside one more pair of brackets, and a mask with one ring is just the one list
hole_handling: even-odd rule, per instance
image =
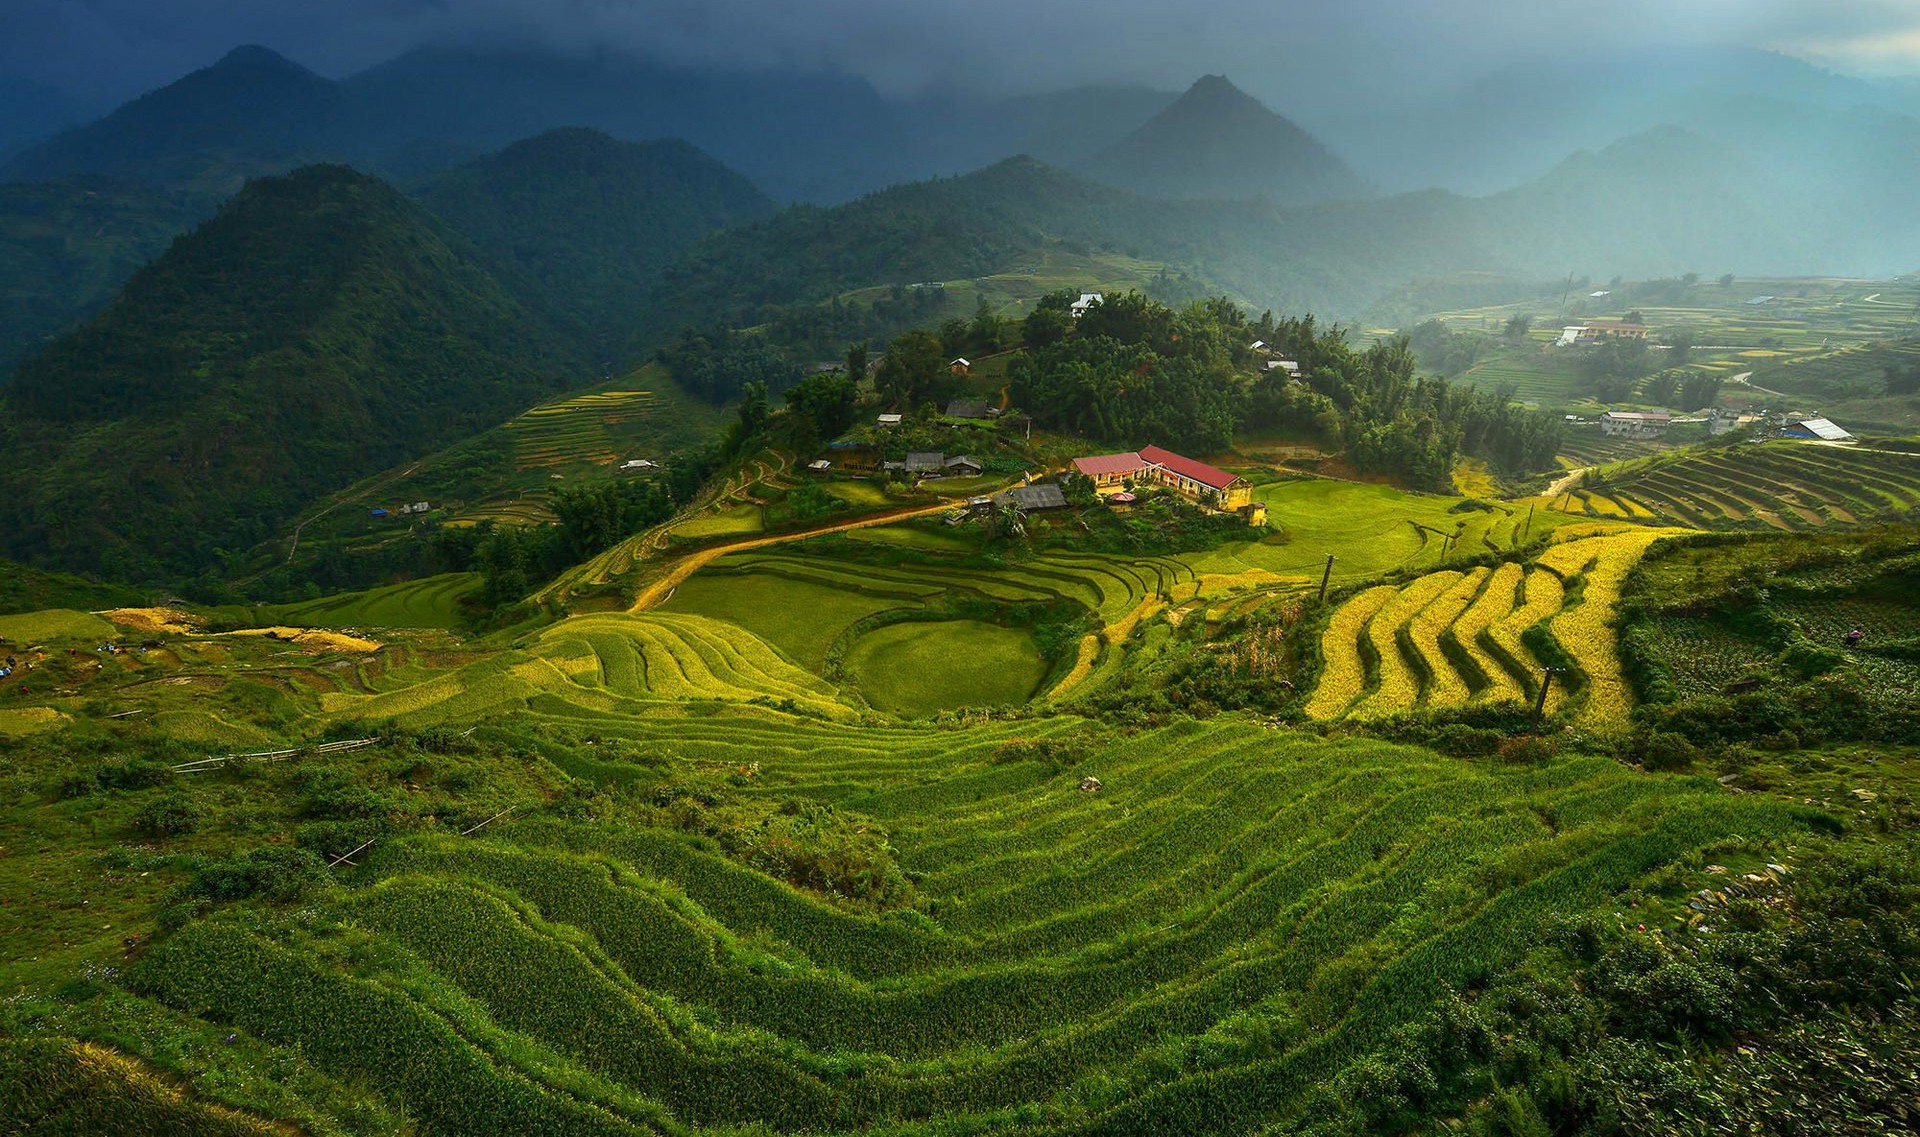
[[[1292, 94], [1271, 73], [1252, 79]], [[1507, 63], [1417, 102], [1340, 104], [1302, 81], [1298, 102], [1306, 113], [1231, 75], [1185, 92], [883, 92], [818, 65], [664, 63], [532, 42], [420, 46], [340, 79], [238, 46], [86, 121], [52, 88], [0, 85], [0, 104], [31, 108], [0, 115], [0, 294], [19, 298], [0, 313], [0, 367], [98, 311], [250, 179], [309, 163], [346, 163], [419, 196], [505, 257], [505, 277], [524, 278], [522, 254], [545, 250], [557, 277], [522, 298], [566, 309], [555, 319], [597, 353], [647, 350], [647, 328], [705, 325], [714, 311], [747, 317], [749, 303], [1010, 271], [1062, 240], [1156, 259], [1254, 307], [1336, 319], [1461, 273], [1920, 265], [1912, 85], [1776, 52], [1674, 46]], [[513, 150], [561, 129], [651, 150], [601, 152], [586, 134]], [[495, 152], [490, 173], [470, 165]], [[570, 182], [586, 152], [595, 173]], [[993, 173], [1016, 156], [1033, 173]], [[507, 188], [516, 177], [520, 188], [580, 188], [536, 211], [547, 227], [520, 234], [522, 254], [503, 238], [526, 223]], [[659, 177], [676, 186], [670, 206]], [[950, 177], [962, 181], [922, 184]], [[701, 196], [707, 206], [689, 206]], [[814, 211], [680, 254], [780, 204]], [[812, 252], [781, 255], [780, 240]], [[789, 292], [770, 292], [776, 280]]]

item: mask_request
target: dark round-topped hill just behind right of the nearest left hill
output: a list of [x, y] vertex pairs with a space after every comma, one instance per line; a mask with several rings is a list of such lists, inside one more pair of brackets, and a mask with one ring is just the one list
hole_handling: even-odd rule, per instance
[[601, 355], [622, 346], [672, 254], [774, 213], [753, 182], [685, 142], [584, 129], [516, 142], [417, 196]]

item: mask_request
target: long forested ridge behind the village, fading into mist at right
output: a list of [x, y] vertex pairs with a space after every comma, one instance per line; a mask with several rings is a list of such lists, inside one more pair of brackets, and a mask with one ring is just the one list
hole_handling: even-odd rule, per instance
[[714, 234], [660, 275], [637, 332], [653, 346], [689, 321], [753, 325], [768, 305], [1018, 273], [1043, 250], [1123, 254], [1177, 267], [1256, 309], [1336, 319], [1459, 273], [1563, 280], [1574, 271], [1605, 280], [1701, 265], [1741, 275], [1809, 263], [1903, 271], [1908, 252], [1880, 240], [1878, 213], [1828, 217], [1826, 236], [1814, 236], [1803, 202], [1763, 165], [1684, 131], [1574, 156], [1492, 198], [1428, 190], [1298, 207], [1152, 200], [1016, 157]]

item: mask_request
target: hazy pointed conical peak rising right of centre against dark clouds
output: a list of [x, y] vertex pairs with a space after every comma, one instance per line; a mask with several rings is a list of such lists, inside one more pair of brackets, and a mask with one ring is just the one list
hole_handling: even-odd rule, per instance
[[1139, 131], [1077, 167], [1152, 198], [1352, 202], [1367, 184], [1317, 138], [1223, 75], [1208, 75]]

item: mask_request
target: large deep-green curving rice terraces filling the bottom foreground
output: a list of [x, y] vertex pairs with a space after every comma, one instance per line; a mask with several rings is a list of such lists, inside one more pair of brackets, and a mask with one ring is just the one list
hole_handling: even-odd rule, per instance
[[[751, 757], [743, 793], [872, 818], [914, 905], [829, 903], [708, 837], [534, 814], [394, 835], [323, 901], [188, 924], [127, 981], [422, 1133], [1284, 1131], [1549, 912], [1736, 835], [1807, 834], [1786, 805], [1609, 759], [1085, 730], [595, 720], [699, 766]], [[1037, 741], [1073, 768], [1021, 759]]]

